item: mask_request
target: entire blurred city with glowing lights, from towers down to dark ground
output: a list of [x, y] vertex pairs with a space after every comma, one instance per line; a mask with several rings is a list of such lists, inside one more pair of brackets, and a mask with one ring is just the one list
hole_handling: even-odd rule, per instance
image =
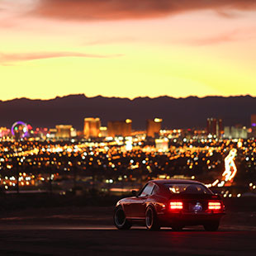
[[146, 130], [130, 119], [102, 126], [98, 117], [84, 118], [83, 130], [1, 127], [2, 192], [124, 194], [152, 178], [197, 179], [223, 197], [256, 192], [256, 114], [250, 127], [214, 117], [203, 130], [164, 130], [162, 122], [145, 120]]

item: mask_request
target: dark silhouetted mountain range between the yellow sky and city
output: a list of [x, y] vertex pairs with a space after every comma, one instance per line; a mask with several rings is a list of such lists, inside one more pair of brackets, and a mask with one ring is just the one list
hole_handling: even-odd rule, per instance
[[11, 127], [25, 121], [33, 128], [71, 124], [83, 129], [84, 117], [100, 117], [107, 121], [133, 121], [135, 130], [145, 130], [146, 120], [163, 118], [163, 128], [204, 128], [207, 117], [223, 119], [224, 126], [250, 125], [256, 113], [256, 97], [86, 97], [84, 94], [55, 97], [50, 100], [17, 98], [0, 101], [0, 126]]

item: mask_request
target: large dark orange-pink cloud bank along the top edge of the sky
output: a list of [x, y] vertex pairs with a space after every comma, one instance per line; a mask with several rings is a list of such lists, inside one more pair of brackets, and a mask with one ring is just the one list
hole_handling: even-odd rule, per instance
[[32, 14], [64, 20], [122, 20], [166, 17], [211, 9], [223, 17], [230, 11], [256, 10], [255, 0], [40, 0]]

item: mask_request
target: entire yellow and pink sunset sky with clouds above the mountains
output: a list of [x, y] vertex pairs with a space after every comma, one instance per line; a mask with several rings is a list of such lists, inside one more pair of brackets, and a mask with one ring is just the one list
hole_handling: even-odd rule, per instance
[[255, 0], [0, 0], [1, 100], [256, 96]]

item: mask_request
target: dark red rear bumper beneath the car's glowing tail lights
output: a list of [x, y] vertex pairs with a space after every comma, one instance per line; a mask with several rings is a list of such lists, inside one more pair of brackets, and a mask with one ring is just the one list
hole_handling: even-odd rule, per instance
[[225, 213], [169, 213], [159, 214], [161, 225], [204, 225], [210, 221], [220, 221]]

